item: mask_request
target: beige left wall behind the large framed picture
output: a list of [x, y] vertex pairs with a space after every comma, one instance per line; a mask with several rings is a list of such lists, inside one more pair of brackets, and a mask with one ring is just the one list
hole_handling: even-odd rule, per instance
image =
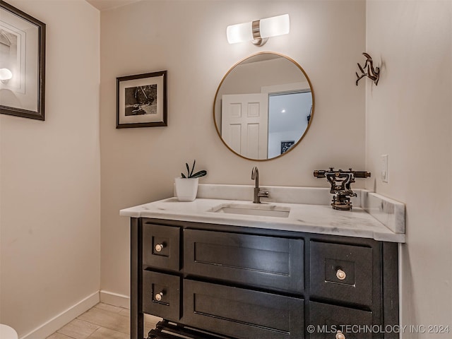
[[0, 115], [0, 322], [45, 338], [100, 286], [100, 14], [8, 3], [47, 24], [46, 121]]

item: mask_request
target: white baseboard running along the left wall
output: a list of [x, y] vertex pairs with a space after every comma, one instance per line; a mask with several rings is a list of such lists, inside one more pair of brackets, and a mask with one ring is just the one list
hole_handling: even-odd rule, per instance
[[82, 299], [77, 304], [69, 307], [69, 309], [62, 311], [60, 314], [54, 316], [54, 318], [35, 328], [30, 333], [23, 335], [23, 337], [20, 337], [20, 339], [47, 338], [49, 335], [58, 331], [61, 327], [66, 325], [66, 323], [69, 323], [73, 319], [76, 319], [83, 312], [88, 311], [88, 309], [99, 302], [99, 299], [99, 292], [95, 292], [92, 295], [85, 297], [85, 299]]

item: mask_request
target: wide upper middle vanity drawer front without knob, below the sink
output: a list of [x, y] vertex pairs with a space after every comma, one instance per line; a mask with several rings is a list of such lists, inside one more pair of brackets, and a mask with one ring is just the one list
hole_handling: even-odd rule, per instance
[[303, 248], [303, 239], [184, 230], [184, 272], [301, 293]]

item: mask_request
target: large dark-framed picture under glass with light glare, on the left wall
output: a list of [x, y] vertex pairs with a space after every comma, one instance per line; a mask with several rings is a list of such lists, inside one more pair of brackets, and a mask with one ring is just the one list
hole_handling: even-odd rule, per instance
[[0, 113], [44, 121], [46, 25], [0, 1]]

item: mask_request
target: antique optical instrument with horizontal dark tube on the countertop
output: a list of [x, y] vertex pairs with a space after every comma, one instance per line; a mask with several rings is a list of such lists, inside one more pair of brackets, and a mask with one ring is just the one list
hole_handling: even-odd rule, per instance
[[348, 171], [343, 171], [342, 169], [335, 171], [334, 167], [330, 167], [327, 171], [316, 169], [314, 171], [314, 177], [318, 179], [326, 178], [331, 184], [330, 193], [335, 194], [331, 206], [335, 210], [351, 210], [352, 202], [350, 198], [356, 196], [352, 191], [351, 185], [355, 182], [355, 178], [370, 177], [370, 172], [353, 171], [351, 168]]

